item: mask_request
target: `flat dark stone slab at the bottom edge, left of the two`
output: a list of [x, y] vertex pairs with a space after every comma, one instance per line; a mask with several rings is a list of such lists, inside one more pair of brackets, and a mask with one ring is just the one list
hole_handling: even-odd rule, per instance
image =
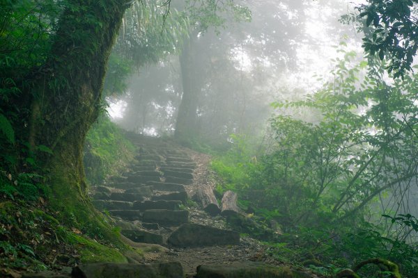
[[91, 263], [72, 269], [73, 278], [183, 278], [183, 267], [178, 262], [153, 263]]

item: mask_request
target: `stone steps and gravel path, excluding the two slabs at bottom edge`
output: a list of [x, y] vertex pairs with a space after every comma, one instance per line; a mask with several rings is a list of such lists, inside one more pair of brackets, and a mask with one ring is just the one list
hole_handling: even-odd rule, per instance
[[148, 254], [145, 263], [178, 261], [187, 277], [199, 265], [263, 261], [265, 247], [227, 227], [221, 215], [209, 215], [191, 201], [199, 186], [215, 185], [208, 171], [210, 158], [159, 138], [130, 136], [139, 154], [121, 177], [95, 188], [95, 206], [118, 220], [121, 233], [137, 243], [167, 247]]

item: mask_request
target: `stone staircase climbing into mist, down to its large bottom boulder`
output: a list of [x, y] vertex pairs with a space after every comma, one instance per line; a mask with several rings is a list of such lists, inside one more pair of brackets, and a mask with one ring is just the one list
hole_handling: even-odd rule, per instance
[[[124, 236], [137, 243], [185, 247], [239, 244], [233, 231], [183, 225], [189, 223], [186, 187], [194, 186], [196, 168], [184, 149], [159, 138], [131, 135], [130, 139], [139, 149], [135, 161], [121, 176], [93, 189], [93, 204], [117, 220]], [[183, 243], [176, 233], [180, 226], [179, 231], [188, 234]]]

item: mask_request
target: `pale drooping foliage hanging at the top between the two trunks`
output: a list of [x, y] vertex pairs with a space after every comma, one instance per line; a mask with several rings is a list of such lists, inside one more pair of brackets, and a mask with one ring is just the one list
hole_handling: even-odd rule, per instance
[[125, 13], [114, 54], [141, 67], [178, 53], [188, 33], [189, 19], [165, 3], [135, 1]]

